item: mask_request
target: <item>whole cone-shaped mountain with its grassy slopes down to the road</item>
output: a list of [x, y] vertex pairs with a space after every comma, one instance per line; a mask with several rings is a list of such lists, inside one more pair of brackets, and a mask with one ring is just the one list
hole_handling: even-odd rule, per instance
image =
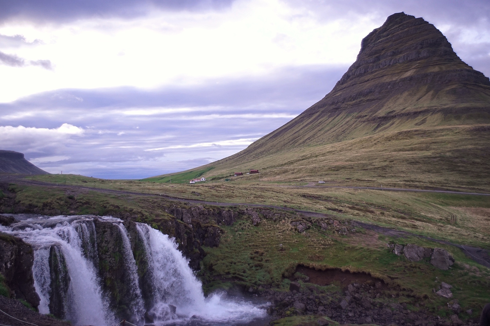
[[[197, 169], [263, 180], [489, 188], [490, 80], [422, 18], [397, 13], [361, 42], [330, 93], [245, 150]], [[246, 176], [245, 178], [252, 178]]]

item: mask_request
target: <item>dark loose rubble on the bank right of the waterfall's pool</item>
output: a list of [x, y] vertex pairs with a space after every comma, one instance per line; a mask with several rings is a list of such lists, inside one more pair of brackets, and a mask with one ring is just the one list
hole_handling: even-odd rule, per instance
[[[268, 313], [276, 319], [293, 315], [327, 316], [340, 324], [377, 324], [381, 326], [462, 326], [476, 325], [475, 321], [464, 323], [459, 317], [459, 305], [451, 302], [453, 314], [441, 318], [424, 309], [423, 303], [410, 310], [406, 303], [384, 293], [383, 283], [352, 283], [342, 293], [328, 292], [316, 285], [308, 287], [292, 283], [292, 291], [265, 290], [259, 297], [273, 303]], [[475, 322], [475, 323], [474, 323]], [[323, 325], [326, 325], [325, 322]]]

